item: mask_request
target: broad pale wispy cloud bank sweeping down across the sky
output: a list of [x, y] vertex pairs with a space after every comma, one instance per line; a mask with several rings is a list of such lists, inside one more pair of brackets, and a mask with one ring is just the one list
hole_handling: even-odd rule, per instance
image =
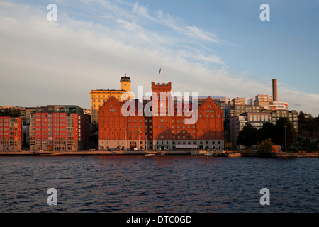
[[[137, 3], [97, 2], [97, 6], [96, 1], [82, 2], [82, 7], [96, 13], [90, 20], [75, 17], [67, 11], [69, 6], [62, 5], [64, 13], [50, 22], [46, 7], [0, 0], [2, 104], [65, 103], [89, 108], [91, 89], [117, 89], [116, 78], [126, 73], [132, 78], [133, 92], [138, 85], [146, 92], [151, 81], [159, 81], [159, 67], [163, 80], [173, 82], [174, 91], [230, 98], [271, 94], [268, 85], [248, 79], [245, 72], [231, 74], [230, 66], [215, 52], [198, 48], [199, 38], [219, 45], [216, 35], [162, 11], [150, 13]], [[159, 35], [146, 20], [173, 32]], [[8, 96], [13, 88], [16, 96]], [[309, 113], [319, 113], [319, 106], [313, 105], [319, 103], [318, 94], [287, 87], [279, 91], [289, 108], [297, 103]]]

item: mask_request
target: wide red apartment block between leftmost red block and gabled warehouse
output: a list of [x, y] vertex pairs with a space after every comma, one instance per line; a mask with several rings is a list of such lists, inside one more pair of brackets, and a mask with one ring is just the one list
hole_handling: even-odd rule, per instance
[[83, 150], [89, 140], [89, 118], [82, 114], [30, 114], [30, 150]]

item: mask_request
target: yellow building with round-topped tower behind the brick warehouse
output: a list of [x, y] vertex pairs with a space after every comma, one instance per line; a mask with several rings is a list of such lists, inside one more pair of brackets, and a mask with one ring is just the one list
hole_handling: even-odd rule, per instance
[[130, 99], [133, 95], [130, 93], [130, 77], [127, 77], [126, 74], [124, 77], [121, 77], [120, 80], [121, 89], [99, 89], [91, 90], [91, 122], [98, 122], [98, 110], [103, 106], [111, 96], [114, 96], [119, 101], [126, 101]]

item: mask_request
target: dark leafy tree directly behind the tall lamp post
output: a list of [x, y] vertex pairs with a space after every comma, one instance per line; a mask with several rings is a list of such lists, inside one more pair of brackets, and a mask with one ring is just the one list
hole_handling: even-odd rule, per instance
[[[286, 139], [285, 139], [285, 126], [286, 127]], [[277, 145], [285, 147], [285, 141], [287, 142], [287, 148], [289, 148], [297, 140], [297, 133], [293, 128], [293, 124], [289, 121], [289, 118], [279, 118], [276, 122], [277, 136], [276, 141]]]

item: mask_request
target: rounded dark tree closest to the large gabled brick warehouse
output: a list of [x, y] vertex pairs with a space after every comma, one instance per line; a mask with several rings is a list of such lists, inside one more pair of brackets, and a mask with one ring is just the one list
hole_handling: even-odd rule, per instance
[[257, 144], [259, 141], [259, 135], [257, 128], [254, 128], [250, 123], [242, 128], [237, 138], [237, 145], [244, 145], [245, 147], [250, 147]]

